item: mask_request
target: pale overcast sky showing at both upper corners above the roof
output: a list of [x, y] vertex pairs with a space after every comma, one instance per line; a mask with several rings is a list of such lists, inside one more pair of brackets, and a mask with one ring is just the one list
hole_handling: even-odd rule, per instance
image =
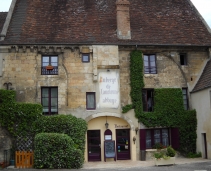
[[[211, 28], [211, 0], [191, 0]], [[0, 12], [8, 11], [12, 0], [0, 0]]]

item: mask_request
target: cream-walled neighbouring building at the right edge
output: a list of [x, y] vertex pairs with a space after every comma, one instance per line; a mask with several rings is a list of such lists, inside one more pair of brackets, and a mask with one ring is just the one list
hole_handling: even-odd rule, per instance
[[191, 91], [193, 108], [198, 112], [197, 116], [197, 150], [202, 152], [203, 158], [211, 156], [211, 52], [205, 67], [202, 68], [198, 82]]

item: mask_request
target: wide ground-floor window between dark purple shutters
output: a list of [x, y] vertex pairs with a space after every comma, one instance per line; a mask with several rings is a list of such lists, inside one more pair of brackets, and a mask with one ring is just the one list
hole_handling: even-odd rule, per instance
[[146, 130], [146, 148], [153, 148], [157, 143], [169, 146], [169, 130], [167, 128]]

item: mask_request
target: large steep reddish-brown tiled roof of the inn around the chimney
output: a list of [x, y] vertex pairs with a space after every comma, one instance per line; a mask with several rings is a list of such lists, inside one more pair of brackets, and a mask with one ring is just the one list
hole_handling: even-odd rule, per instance
[[116, 0], [17, 0], [5, 44], [211, 45], [189, 0], [129, 0], [131, 40], [116, 35]]

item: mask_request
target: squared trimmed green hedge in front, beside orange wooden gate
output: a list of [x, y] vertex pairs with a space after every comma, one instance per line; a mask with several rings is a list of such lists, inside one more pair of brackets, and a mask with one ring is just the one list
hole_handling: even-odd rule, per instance
[[40, 133], [35, 136], [34, 167], [38, 169], [78, 169], [83, 164], [81, 150], [66, 134]]

